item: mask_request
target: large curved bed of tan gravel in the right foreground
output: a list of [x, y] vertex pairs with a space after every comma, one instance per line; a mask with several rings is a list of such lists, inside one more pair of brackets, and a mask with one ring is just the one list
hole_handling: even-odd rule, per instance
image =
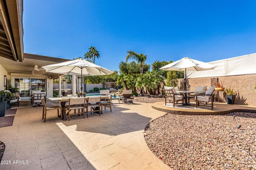
[[173, 169], [256, 169], [256, 113], [166, 114], [147, 125], [144, 137]]

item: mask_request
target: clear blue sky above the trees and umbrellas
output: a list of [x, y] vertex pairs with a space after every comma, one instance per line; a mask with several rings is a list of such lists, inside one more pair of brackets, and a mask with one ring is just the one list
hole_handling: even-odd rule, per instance
[[111, 70], [129, 50], [148, 64], [227, 59], [256, 53], [255, 11], [255, 0], [24, 0], [24, 53], [73, 59], [94, 46]]

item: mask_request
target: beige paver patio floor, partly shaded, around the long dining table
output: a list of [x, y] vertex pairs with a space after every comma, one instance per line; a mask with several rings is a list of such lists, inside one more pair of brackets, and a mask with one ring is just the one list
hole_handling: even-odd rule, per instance
[[170, 169], [144, 140], [148, 122], [166, 114], [151, 105], [114, 101], [112, 112], [107, 108], [85, 119], [74, 115], [70, 121], [48, 111], [46, 123], [42, 107], [15, 107], [13, 125], [0, 128], [0, 141], [6, 145], [2, 161], [11, 162], [0, 169]]

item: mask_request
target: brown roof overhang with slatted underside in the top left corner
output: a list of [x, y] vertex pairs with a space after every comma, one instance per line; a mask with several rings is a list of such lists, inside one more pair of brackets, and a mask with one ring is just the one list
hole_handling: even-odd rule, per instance
[[0, 56], [24, 60], [23, 0], [0, 0]]

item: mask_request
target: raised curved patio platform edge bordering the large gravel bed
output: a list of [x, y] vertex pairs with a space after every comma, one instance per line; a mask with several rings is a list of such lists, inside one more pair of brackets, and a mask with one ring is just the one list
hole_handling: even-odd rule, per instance
[[166, 113], [177, 114], [177, 115], [224, 115], [234, 111], [241, 112], [253, 112], [256, 113], [255, 106], [244, 106], [244, 105], [230, 105], [230, 104], [218, 104], [214, 103], [213, 110], [211, 109], [183, 109], [164, 106], [164, 102], [156, 102], [152, 104], [152, 108], [158, 111], [164, 111]]

